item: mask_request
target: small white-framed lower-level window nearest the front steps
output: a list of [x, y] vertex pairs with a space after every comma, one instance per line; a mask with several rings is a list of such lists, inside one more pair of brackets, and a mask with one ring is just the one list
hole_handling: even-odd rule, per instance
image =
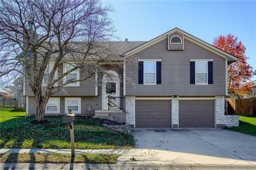
[[72, 110], [72, 113], [81, 113], [81, 98], [65, 98], [65, 113]]

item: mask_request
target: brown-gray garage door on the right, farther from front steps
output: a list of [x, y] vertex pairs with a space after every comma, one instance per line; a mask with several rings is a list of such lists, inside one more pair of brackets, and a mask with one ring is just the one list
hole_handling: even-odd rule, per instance
[[214, 100], [180, 100], [179, 127], [214, 127]]

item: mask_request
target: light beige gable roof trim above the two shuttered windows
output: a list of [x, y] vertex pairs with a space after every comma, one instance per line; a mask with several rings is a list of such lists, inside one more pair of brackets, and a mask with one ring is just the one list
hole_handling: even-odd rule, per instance
[[174, 32], [178, 32], [179, 34], [183, 34], [184, 38], [188, 39], [189, 41], [193, 41], [193, 43], [196, 43], [197, 45], [200, 45], [207, 50], [211, 50], [212, 52], [220, 55], [221, 57], [227, 58], [228, 61], [236, 61], [237, 58], [230, 53], [227, 53], [219, 48], [216, 48], [215, 46], [203, 41], [202, 39], [196, 38], [195, 36], [192, 36], [188, 32], [182, 31], [181, 29], [175, 27], [174, 29], [171, 29], [170, 31], [165, 32], [164, 34], [161, 34], [160, 36], [157, 36], [156, 38], [151, 39], [150, 41], [147, 41], [146, 43], [143, 43], [140, 46], [137, 46], [136, 48], [133, 48], [132, 50], [129, 50], [124, 53], [124, 55], [133, 55], [137, 52], [140, 52], [141, 50], [148, 48], [149, 46], [152, 46], [159, 41], [162, 41], [163, 39], [166, 39], [169, 34], [172, 34]]

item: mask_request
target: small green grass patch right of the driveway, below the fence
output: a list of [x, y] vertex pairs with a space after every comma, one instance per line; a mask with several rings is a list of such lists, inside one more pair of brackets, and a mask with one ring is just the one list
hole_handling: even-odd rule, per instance
[[256, 116], [239, 116], [239, 127], [230, 127], [228, 129], [256, 136]]

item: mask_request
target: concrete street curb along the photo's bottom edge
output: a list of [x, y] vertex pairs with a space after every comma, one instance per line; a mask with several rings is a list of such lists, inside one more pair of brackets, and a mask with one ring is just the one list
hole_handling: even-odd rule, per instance
[[255, 166], [244, 166], [244, 165], [200, 165], [200, 164], [0, 164], [0, 169], [115, 169], [115, 170], [125, 170], [125, 169], [152, 169], [152, 170], [161, 170], [161, 169], [174, 169], [174, 170], [255, 170]]

